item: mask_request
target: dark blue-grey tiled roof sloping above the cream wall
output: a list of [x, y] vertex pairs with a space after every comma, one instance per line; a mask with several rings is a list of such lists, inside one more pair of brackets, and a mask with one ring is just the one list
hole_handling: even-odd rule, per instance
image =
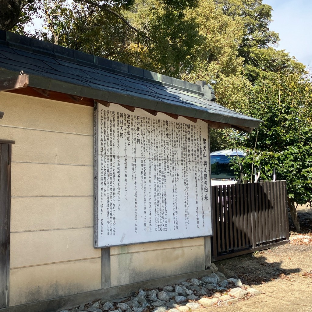
[[44, 41], [0, 32], [0, 78], [29, 75], [29, 86], [236, 127], [261, 120], [213, 101], [209, 85], [192, 84]]

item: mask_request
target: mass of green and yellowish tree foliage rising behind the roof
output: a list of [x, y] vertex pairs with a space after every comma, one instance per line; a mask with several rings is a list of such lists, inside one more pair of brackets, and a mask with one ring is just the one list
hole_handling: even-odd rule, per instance
[[[289, 200], [312, 200], [311, 80], [274, 48], [262, 0], [23, 0], [14, 31], [191, 82], [217, 102], [262, 119], [258, 132], [212, 130], [211, 150], [243, 147], [245, 169], [287, 180]], [[30, 31], [34, 18], [44, 28]], [[253, 153], [254, 149], [256, 154]]]

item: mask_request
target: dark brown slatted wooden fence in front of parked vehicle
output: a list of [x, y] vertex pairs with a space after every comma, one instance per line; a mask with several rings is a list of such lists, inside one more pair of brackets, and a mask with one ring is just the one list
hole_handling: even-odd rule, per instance
[[286, 181], [212, 187], [212, 259], [289, 241]]

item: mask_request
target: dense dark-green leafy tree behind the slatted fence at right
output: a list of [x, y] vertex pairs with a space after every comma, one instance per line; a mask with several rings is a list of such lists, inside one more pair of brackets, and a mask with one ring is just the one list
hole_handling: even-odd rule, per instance
[[[293, 60], [285, 54], [284, 63], [287, 62]], [[253, 179], [252, 166], [258, 168], [261, 164], [262, 179], [271, 180], [275, 168], [276, 178], [287, 181], [288, 207], [300, 231], [296, 204], [312, 204], [312, 85], [302, 64], [297, 65], [295, 71], [286, 68], [259, 74], [249, 94], [249, 104], [241, 111], [262, 119], [263, 124], [258, 132], [235, 133], [231, 139], [248, 153], [243, 164], [249, 179]]]

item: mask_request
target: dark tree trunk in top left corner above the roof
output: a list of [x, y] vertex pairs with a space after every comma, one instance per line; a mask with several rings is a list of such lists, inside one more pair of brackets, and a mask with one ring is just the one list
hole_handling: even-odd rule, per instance
[[21, 0], [0, 0], [0, 30], [10, 30], [19, 21]]

